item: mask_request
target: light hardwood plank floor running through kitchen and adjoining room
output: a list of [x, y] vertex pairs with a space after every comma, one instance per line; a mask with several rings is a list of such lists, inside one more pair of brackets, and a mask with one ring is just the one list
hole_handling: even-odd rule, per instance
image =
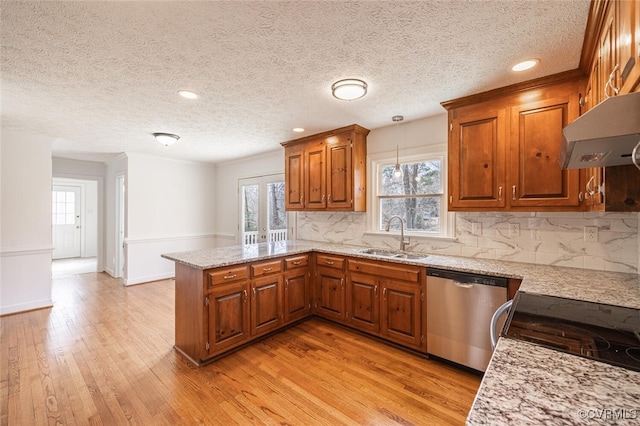
[[480, 384], [320, 320], [196, 368], [173, 290], [66, 276], [52, 309], [0, 318], [0, 424], [463, 424]]

